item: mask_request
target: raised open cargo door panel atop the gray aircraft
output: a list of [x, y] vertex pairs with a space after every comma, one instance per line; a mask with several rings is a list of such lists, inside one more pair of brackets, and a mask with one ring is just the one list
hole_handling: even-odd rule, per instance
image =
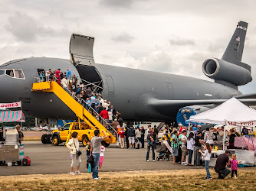
[[94, 37], [88, 37], [80, 34], [72, 34], [69, 44], [71, 62], [74, 66], [86, 65], [94, 66]]

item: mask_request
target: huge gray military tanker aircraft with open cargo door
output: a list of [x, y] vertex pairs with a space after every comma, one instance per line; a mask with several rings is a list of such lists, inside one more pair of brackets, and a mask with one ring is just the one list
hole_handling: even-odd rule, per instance
[[39, 71], [60, 68], [65, 72], [68, 67], [88, 86], [101, 89], [103, 99], [115, 105], [126, 121], [176, 121], [178, 112], [186, 119], [232, 97], [255, 105], [255, 94], [243, 95], [238, 90], [252, 80], [251, 66], [241, 62], [247, 28], [248, 23], [239, 21], [222, 59], [202, 63], [205, 76], [215, 82], [95, 63], [94, 37], [72, 34], [71, 60], [30, 57], [2, 64], [0, 102], [22, 101], [25, 115], [38, 118], [76, 119], [54, 93], [31, 91]]

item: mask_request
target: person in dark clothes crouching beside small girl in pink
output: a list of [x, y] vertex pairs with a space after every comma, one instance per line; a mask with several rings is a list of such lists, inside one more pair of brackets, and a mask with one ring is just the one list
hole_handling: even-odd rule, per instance
[[228, 157], [230, 151], [226, 150], [225, 154], [218, 155], [215, 172], [218, 173], [218, 179], [225, 179], [226, 176], [231, 172], [226, 166], [229, 166], [231, 159]]

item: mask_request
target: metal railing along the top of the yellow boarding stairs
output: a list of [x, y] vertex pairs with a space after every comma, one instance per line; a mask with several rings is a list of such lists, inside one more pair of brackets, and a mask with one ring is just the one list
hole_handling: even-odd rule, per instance
[[[49, 82], [49, 81], [56, 81], [56, 82], [57, 82], [57, 80], [58, 80], [58, 79], [56, 78], [56, 76], [38, 76], [38, 77], [35, 77], [35, 78], [34, 78], [34, 83], [35, 83], [35, 79], [36, 79], [36, 81], [37, 81], [36, 83]], [[90, 112], [90, 111], [94, 112], [102, 121], [104, 121], [104, 122], [107, 124], [108, 127], [112, 128], [113, 131], [115, 131], [115, 132], [117, 133], [117, 130], [114, 129], [104, 118], [102, 118], [102, 117], [99, 115], [99, 113], [94, 110], [94, 108], [92, 108], [90, 105], [87, 105], [87, 102], [85, 102], [84, 99], [79, 99], [79, 98], [77, 98], [76, 93], [75, 93], [75, 92], [72, 93], [71, 90], [68, 89], [68, 88], [64, 88], [64, 90], [65, 90], [69, 95], [71, 95], [71, 97], [74, 98], [74, 100], [76, 100], [76, 101], [77, 101], [80, 105], [82, 105], [84, 108], [87, 109], [86, 106], [88, 106], [88, 107], [89, 107], [89, 109], [87, 109], [88, 112]], [[93, 115], [93, 114], [92, 114], [92, 115]], [[94, 116], [94, 115], [93, 115], [93, 116]]]

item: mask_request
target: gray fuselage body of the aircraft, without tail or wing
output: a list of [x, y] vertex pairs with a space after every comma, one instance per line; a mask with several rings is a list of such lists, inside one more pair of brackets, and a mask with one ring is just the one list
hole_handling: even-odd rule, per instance
[[[22, 101], [25, 114], [38, 118], [76, 119], [74, 112], [54, 93], [31, 91], [38, 69], [60, 68], [64, 73], [67, 67], [72, 75], [79, 76], [70, 60], [57, 58], [31, 57], [0, 66], [0, 70], [21, 69], [25, 74], [25, 79], [0, 75], [0, 102]], [[127, 121], [175, 121], [179, 108], [185, 106], [153, 108], [149, 104], [151, 99], [230, 99], [241, 95], [237, 89], [188, 76], [103, 64], [96, 64], [95, 68], [103, 80], [103, 99], [110, 101]]]

